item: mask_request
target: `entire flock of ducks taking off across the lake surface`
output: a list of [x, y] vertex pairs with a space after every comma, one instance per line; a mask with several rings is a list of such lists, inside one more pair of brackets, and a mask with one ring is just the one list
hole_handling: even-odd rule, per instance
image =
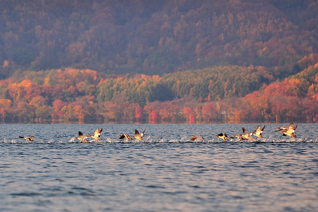
[[[291, 123], [289, 124], [288, 127], [277, 127], [277, 131], [275, 132], [278, 132], [280, 131], [281, 133], [283, 133], [283, 136], [290, 136], [292, 138], [296, 138], [296, 136], [294, 135], [294, 132], [297, 128], [298, 124], [296, 126], [294, 126], [294, 123]], [[249, 140], [250, 138], [251, 139], [254, 139], [252, 138], [252, 136], [256, 136], [258, 138], [263, 138], [262, 136], [262, 132], [264, 131], [265, 129], [265, 125], [262, 129], [260, 129], [261, 125], [259, 125], [256, 130], [254, 130], [253, 132], [251, 133], [247, 133], [245, 128], [243, 127], [242, 128], [242, 131], [243, 131], [243, 134], [239, 134], [239, 135], [233, 135], [231, 136], [230, 138], [238, 138], [239, 141], [241, 140]], [[88, 141], [87, 138], [91, 137], [93, 138], [96, 142], [101, 142], [101, 138], [100, 138], [100, 133], [103, 131], [103, 128], [99, 129], [97, 127], [96, 131], [94, 132], [94, 135], [91, 135], [91, 134], [88, 134], [86, 136], [83, 135], [83, 133], [81, 131], [79, 131], [79, 137], [74, 137], [76, 139], [79, 139], [80, 143], [87, 143], [87, 142], [91, 142], [91, 141]], [[138, 130], [135, 129], [135, 136], [129, 136], [127, 133], [124, 133], [122, 135], [119, 135], [119, 139], [126, 139], [126, 140], [132, 140], [133, 138], [137, 139], [137, 140], [143, 140], [142, 136], [144, 135], [146, 129], [144, 129], [144, 131], [142, 131], [142, 133], [139, 133]], [[194, 141], [196, 139], [202, 139], [204, 140], [203, 137], [201, 136], [192, 136], [193, 138], [191, 138], [191, 141]], [[216, 135], [216, 137], [218, 138], [222, 138], [224, 141], [225, 140], [229, 140], [229, 138], [227, 137], [226, 133], [222, 132], [218, 135]], [[28, 141], [34, 141], [34, 136], [29, 136], [29, 137], [25, 137], [25, 136], [19, 136], [19, 138], [24, 138], [25, 140], [28, 140]]]

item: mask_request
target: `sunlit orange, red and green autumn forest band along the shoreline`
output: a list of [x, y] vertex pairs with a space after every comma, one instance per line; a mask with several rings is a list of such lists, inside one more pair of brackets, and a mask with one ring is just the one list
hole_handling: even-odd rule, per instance
[[[16, 72], [0, 81], [1, 123], [318, 122], [318, 54], [281, 82], [262, 66], [159, 75], [90, 69]], [[315, 64], [315, 65], [311, 65]]]

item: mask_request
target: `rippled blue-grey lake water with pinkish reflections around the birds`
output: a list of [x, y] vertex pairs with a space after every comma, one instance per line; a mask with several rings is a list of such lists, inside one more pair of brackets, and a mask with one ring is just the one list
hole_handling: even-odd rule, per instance
[[[318, 211], [318, 124], [215, 137], [257, 125], [0, 125], [0, 211]], [[97, 127], [102, 143], [73, 139]], [[118, 139], [135, 128], [144, 141]]]

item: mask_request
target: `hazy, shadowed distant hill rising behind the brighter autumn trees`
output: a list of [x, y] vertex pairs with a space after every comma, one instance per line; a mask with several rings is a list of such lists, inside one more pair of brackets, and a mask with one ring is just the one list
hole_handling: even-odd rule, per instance
[[316, 11], [314, 0], [2, 0], [0, 79], [63, 67], [162, 76], [228, 65], [284, 79], [318, 53]]

